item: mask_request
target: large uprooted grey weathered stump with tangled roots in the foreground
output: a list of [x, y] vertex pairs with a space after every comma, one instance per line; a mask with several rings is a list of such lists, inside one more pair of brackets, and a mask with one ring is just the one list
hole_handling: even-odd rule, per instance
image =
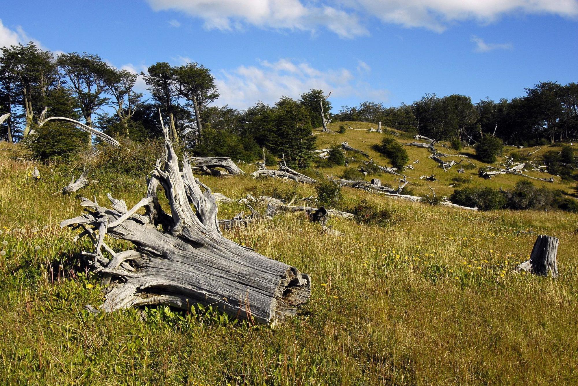
[[[190, 309], [200, 303], [262, 324], [295, 314], [310, 297], [309, 276], [223, 237], [211, 190], [195, 180], [187, 155], [179, 167], [166, 129], [164, 136], [165, 160], [157, 162], [146, 197], [134, 208], [128, 210], [110, 195], [112, 209], [83, 198], [87, 213], [61, 223], [84, 228], [80, 236], [95, 244], [94, 252], [84, 254], [92, 257], [105, 282], [113, 280], [101, 309], [151, 304]], [[170, 214], [158, 202], [159, 186]], [[137, 214], [142, 207], [146, 214]], [[131, 242], [134, 250], [114, 252], [105, 234]]]

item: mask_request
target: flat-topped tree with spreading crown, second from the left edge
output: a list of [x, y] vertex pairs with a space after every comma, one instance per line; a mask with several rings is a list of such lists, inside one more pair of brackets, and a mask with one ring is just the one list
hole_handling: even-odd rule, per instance
[[[79, 100], [84, 121], [92, 127], [92, 114], [108, 102], [101, 95], [108, 91], [108, 81], [113, 77], [113, 69], [98, 55], [87, 53], [62, 54], [58, 57], [58, 68], [62, 76]], [[88, 136], [92, 146], [92, 136]]]

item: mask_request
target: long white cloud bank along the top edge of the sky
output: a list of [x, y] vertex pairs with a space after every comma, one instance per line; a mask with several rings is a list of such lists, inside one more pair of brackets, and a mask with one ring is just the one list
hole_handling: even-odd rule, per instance
[[441, 32], [455, 21], [490, 23], [510, 13], [578, 16], [578, 0], [147, 0], [154, 10], [201, 18], [206, 28], [329, 29], [342, 38], [367, 35], [377, 17], [384, 23]]

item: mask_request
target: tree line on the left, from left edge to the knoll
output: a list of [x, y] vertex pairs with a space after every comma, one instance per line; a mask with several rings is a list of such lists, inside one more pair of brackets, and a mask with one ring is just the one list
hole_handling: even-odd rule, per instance
[[[66, 123], [36, 127], [45, 107], [47, 117], [80, 119], [133, 141], [161, 136], [160, 112], [173, 142], [197, 155], [252, 161], [265, 152], [306, 166], [315, 142], [312, 128], [322, 125], [320, 101], [325, 111], [331, 110], [321, 90], [303, 93], [299, 100], [282, 97], [274, 106], [259, 102], [246, 111], [210, 106], [219, 93], [210, 70], [199, 63], [149, 66], [140, 74], [149, 99], [135, 91], [138, 76], [112, 68], [98, 55], [55, 56], [34, 43], [3, 47], [0, 115], [10, 113], [10, 118], [0, 138], [27, 140], [40, 158], [62, 158], [86, 148], [90, 137]], [[54, 133], [50, 139], [49, 132]], [[36, 133], [34, 138], [28, 138], [30, 133]]]

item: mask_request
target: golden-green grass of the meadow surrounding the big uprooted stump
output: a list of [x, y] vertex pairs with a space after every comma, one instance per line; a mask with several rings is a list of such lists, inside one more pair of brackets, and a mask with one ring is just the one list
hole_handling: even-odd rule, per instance
[[[355, 123], [354, 127], [361, 126]], [[332, 129], [336, 126], [331, 125]], [[317, 134], [319, 148], [342, 141], [371, 153], [380, 134]], [[2, 146], [3, 148], [6, 146]], [[420, 168], [444, 173], [425, 149], [408, 148]], [[6, 384], [576, 384], [578, 381], [578, 218], [565, 212], [471, 212], [388, 200], [344, 189], [387, 209], [386, 227], [331, 219], [324, 235], [301, 213], [226, 233], [295, 265], [313, 281], [310, 302], [276, 328], [235, 323], [212, 310], [168, 308], [93, 316], [103, 288], [58, 223], [79, 215], [79, 196], [136, 204], [142, 178], [95, 171], [79, 193], [58, 192], [66, 166], [34, 164], [0, 151], [0, 380]], [[474, 161], [476, 162], [476, 161]], [[476, 162], [477, 163], [477, 162]], [[249, 170], [253, 166], [244, 166]], [[423, 169], [421, 169], [423, 167]], [[324, 171], [325, 172], [325, 171]], [[327, 170], [338, 174], [338, 170]], [[475, 171], [472, 171], [475, 173]], [[508, 188], [509, 175], [476, 183]], [[386, 176], [381, 177], [384, 181]], [[306, 197], [311, 186], [249, 176], [200, 176], [214, 192]], [[393, 180], [391, 180], [393, 182]], [[549, 184], [549, 187], [553, 187]], [[564, 184], [556, 187], [569, 189]], [[416, 189], [427, 189], [417, 186]], [[219, 217], [239, 211], [223, 204]], [[261, 208], [262, 210], [262, 208]], [[557, 280], [514, 273], [537, 234], [560, 238]], [[127, 248], [108, 240], [115, 249]], [[144, 318], [143, 316], [146, 316]]]

